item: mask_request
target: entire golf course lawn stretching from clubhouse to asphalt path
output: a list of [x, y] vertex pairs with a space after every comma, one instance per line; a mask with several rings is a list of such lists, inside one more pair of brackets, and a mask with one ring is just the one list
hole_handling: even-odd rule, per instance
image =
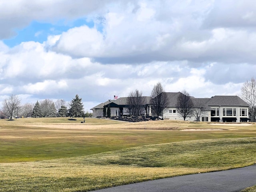
[[256, 163], [254, 124], [81, 121], [0, 120], [0, 191], [90, 191]]

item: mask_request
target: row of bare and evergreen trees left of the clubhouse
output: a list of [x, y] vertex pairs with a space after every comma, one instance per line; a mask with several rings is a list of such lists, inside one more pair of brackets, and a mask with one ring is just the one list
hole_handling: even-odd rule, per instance
[[58, 99], [56, 102], [50, 99], [37, 101], [36, 104], [26, 103], [21, 104], [21, 99], [18, 95], [10, 95], [2, 101], [2, 109], [0, 118], [15, 118], [15, 117], [91, 117], [92, 113], [84, 112], [82, 98], [76, 94], [71, 102], [66, 102], [63, 99]]

